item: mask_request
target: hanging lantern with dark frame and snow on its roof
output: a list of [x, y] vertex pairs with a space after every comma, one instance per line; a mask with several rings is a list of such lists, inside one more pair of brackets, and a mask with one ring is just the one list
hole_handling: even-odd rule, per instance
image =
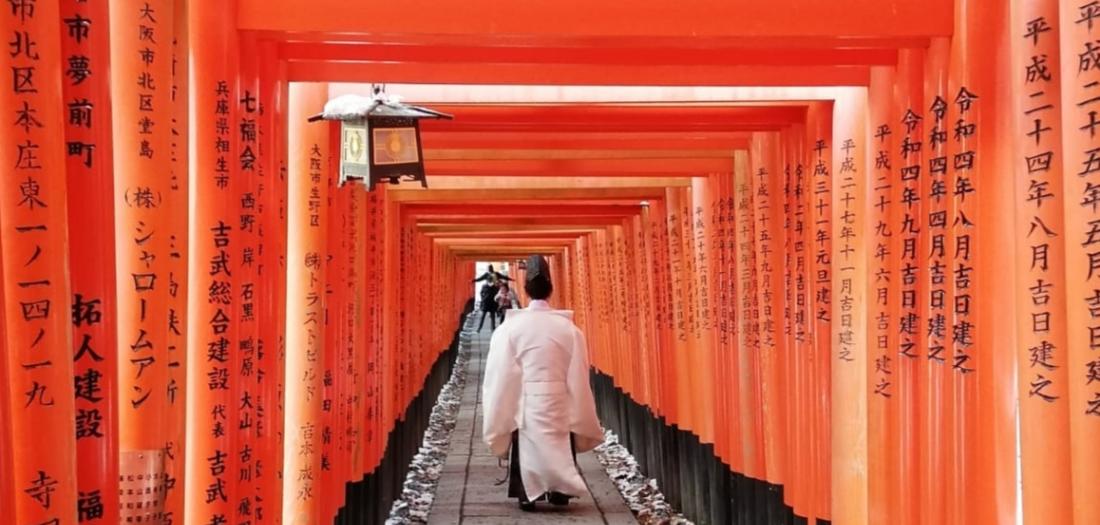
[[358, 181], [374, 189], [375, 183], [402, 181], [419, 181], [428, 187], [419, 121], [451, 118], [402, 103], [376, 86], [372, 97], [344, 95], [329, 100], [324, 112], [309, 121], [340, 121], [340, 185]]

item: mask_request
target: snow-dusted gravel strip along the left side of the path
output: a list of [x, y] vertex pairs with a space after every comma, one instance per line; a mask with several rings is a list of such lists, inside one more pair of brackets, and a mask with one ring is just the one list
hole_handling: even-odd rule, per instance
[[476, 332], [469, 316], [466, 325], [459, 333], [459, 356], [451, 370], [451, 379], [439, 392], [436, 406], [431, 409], [428, 428], [424, 433], [420, 450], [409, 463], [409, 472], [405, 477], [405, 489], [400, 497], [394, 501], [389, 508], [386, 525], [405, 525], [411, 523], [428, 523], [431, 503], [436, 500], [436, 489], [443, 472], [443, 463], [451, 449], [451, 435], [454, 433], [462, 406], [462, 391], [466, 385], [466, 363], [470, 359], [470, 346]]

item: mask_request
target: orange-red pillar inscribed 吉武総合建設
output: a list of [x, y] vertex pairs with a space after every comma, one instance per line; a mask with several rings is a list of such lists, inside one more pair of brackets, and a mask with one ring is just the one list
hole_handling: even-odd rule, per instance
[[184, 501], [186, 523], [193, 525], [229, 522], [238, 511], [243, 243], [234, 15], [233, 2], [188, 4], [193, 142]]

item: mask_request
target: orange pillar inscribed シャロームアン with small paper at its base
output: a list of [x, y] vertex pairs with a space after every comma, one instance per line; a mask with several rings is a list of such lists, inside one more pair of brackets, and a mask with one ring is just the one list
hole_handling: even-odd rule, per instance
[[172, 205], [182, 193], [169, 187], [173, 18], [167, 0], [110, 4], [119, 482], [128, 519], [163, 517], [169, 407], [183, 409], [168, 378], [183, 352], [169, 356], [167, 339], [172, 278], [180, 278], [168, 270], [175, 251], [169, 214], [184, 212]]

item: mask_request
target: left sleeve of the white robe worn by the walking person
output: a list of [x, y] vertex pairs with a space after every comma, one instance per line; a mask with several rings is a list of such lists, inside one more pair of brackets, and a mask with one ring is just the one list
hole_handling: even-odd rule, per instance
[[[503, 327], [502, 327], [503, 328]], [[507, 330], [497, 330], [488, 343], [485, 359], [485, 383], [482, 387], [482, 439], [497, 456], [508, 453], [512, 433], [518, 428], [519, 396], [522, 371]]]

